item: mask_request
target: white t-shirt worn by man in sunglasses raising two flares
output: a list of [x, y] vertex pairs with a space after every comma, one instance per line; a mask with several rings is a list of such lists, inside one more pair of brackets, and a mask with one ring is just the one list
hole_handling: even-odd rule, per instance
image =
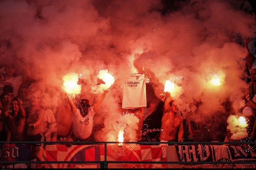
[[79, 139], [86, 139], [92, 133], [93, 117], [94, 117], [93, 107], [89, 108], [89, 112], [86, 117], [80, 114], [80, 110], [77, 109], [76, 113], [73, 115], [73, 133], [75, 137]]

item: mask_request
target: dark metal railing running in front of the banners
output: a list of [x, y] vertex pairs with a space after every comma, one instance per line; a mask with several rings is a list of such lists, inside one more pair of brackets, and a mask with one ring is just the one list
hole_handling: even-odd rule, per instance
[[[0, 144], [5, 144], [6, 141], [0, 141]], [[10, 141], [9, 144], [37, 144], [45, 143], [46, 145], [102, 145], [104, 144], [104, 160], [100, 161], [3, 161], [0, 160], [1, 164], [100, 164], [100, 168], [108, 168], [108, 164], [256, 164], [255, 160], [250, 161], [234, 161], [234, 162], [170, 162], [170, 161], [110, 161], [107, 160], [107, 144], [119, 144], [121, 142], [101, 142], [101, 141], [54, 141], [54, 142], [39, 142], [39, 141]], [[138, 141], [138, 142], [122, 142], [123, 144], [137, 144], [137, 145], [256, 145], [256, 142], [152, 142], [152, 141]], [[3, 153], [3, 152], [1, 152]]]

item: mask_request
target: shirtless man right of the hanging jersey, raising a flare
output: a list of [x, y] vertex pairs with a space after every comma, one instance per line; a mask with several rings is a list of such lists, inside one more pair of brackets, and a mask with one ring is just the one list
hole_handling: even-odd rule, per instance
[[161, 142], [175, 141], [177, 130], [179, 130], [178, 142], [183, 142], [183, 118], [178, 112], [179, 109], [175, 100], [172, 100], [171, 97], [167, 97], [164, 103], [162, 131], [159, 138]]

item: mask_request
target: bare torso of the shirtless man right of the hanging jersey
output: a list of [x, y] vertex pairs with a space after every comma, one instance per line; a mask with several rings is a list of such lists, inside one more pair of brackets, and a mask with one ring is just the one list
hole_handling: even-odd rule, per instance
[[162, 117], [162, 131], [159, 139], [164, 141], [175, 140], [177, 129], [182, 121], [183, 118], [180, 114], [165, 113]]

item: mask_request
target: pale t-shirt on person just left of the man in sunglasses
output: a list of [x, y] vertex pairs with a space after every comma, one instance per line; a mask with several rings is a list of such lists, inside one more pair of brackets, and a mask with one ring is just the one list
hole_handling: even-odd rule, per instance
[[45, 131], [46, 141], [51, 141], [52, 132], [57, 132], [57, 123], [53, 111], [49, 108], [45, 110], [44, 122], [47, 124]]

